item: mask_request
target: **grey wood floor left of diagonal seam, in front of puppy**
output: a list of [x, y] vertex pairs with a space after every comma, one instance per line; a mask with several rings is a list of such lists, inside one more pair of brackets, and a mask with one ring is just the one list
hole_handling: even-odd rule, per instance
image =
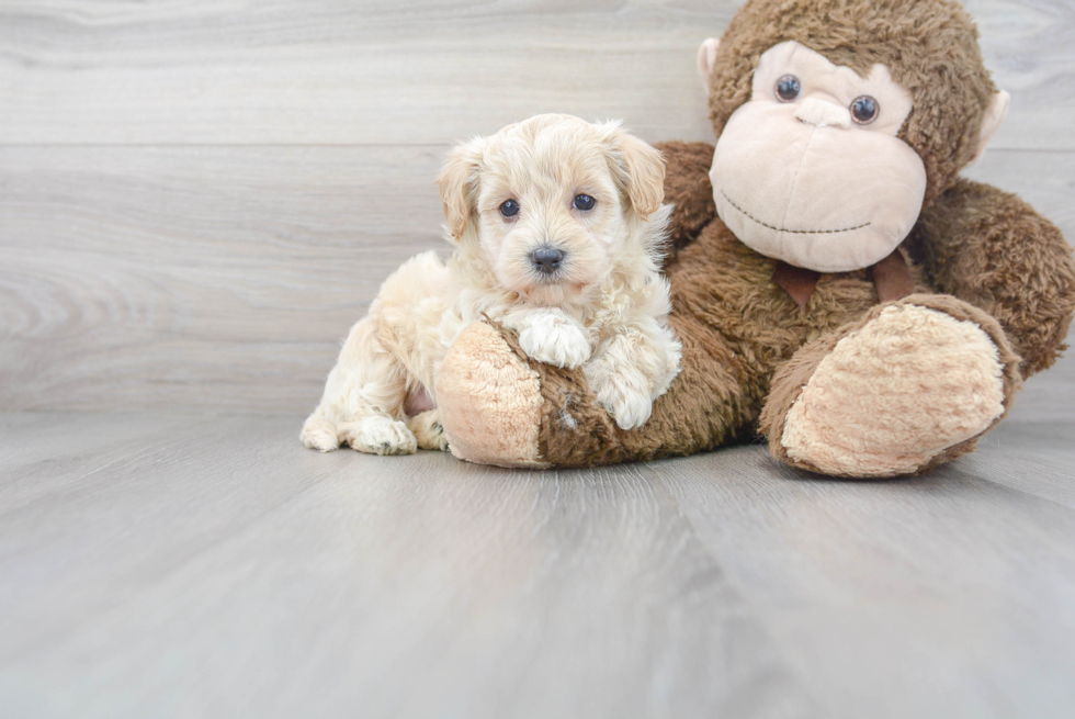
[[138, 419], [3, 420], [8, 716], [808, 716], [652, 470]]

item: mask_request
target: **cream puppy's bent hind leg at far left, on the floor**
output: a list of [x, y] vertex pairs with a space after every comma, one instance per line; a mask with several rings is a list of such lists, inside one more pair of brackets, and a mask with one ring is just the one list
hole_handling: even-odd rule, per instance
[[374, 315], [357, 323], [325, 383], [320, 404], [303, 425], [312, 449], [332, 451], [342, 443], [371, 454], [411, 454], [415, 435], [403, 416], [407, 370], [377, 338]]

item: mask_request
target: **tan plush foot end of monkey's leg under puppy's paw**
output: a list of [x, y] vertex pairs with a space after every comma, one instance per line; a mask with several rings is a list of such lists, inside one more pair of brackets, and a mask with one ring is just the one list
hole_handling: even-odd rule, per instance
[[437, 409], [452, 453], [501, 467], [547, 467], [539, 459], [543, 405], [538, 373], [500, 332], [475, 322], [441, 366]]

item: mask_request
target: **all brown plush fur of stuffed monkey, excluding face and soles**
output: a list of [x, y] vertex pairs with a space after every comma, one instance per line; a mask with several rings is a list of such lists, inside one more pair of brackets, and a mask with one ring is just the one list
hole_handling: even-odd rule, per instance
[[[975, 38], [970, 19], [951, 0], [748, 0], [721, 43], [710, 106], [720, 135], [749, 98], [758, 58], [789, 40], [859, 72], [875, 63], [889, 67], [914, 99], [899, 136], [928, 173], [927, 204], [899, 248], [916, 294], [899, 302], [984, 330], [996, 346], [993, 367], [1002, 368], [999, 422], [1021, 377], [1049, 367], [1064, 349], [1075, 263], [1056, 228], [1026, 203], [957, 178], [977, 150], [995, 91]], [[747, 440], [761, 430], [773, 453], [789, 461], [780, 440], [804, 385], [841, 338], [884, 311], [870, 270], [822, 274], [800, 307], [772, 282], [776, 261], [746, 247], [716, 217], [709, 181], [713, 147], [660, 148], [668, 162], [666, 201], [676, 205], [678, 254], [667, 274], [669, 323], [683, 345], [681, 372], [654, 403], [649, 422], [622, 431], [580, 371], [531, 362], [506, 338], [516, 348], [511, 361], [529, 364], [540, 380], [538, 459], [559, 467], [648, 460]], [[944, 448], [914, 471], [971, 451], [975, 441]]]

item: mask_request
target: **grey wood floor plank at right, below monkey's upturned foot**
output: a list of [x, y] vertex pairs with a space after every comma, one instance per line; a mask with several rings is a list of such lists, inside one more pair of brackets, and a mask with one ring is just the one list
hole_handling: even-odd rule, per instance
[[660, 475], [773, 618], [822, 716], [1059, 717], [1073, 699], [1071, 638], [1054, 622], [1075, 618], [1075, 517], [1023, 480], [1075, 458], [1052, 443], [1012, 461], [1011, 428], [996, 435], [1004, 449], [895, 483], [831, 481], [761, 452], [744, 469], [746, 449]]

